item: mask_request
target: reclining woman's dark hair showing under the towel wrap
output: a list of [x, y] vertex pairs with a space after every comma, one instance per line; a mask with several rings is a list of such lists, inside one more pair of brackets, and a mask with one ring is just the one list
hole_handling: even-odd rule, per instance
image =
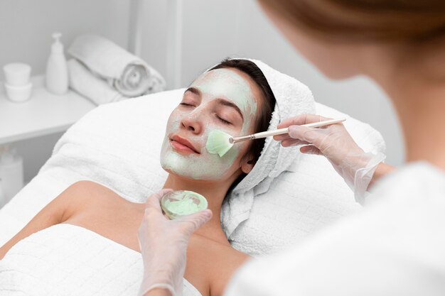
[[[250, 60], [238, 59], [225, 59], [209, 71], [222, 68], [234, 68], [244, 72], [245, 74], [249, 75], [249, 77], [257, 84], [259, 89], [261, 89], [262, 104], [259, 106], [258, 118], [254, 126], [254, 133], [267, 131], [267, 128], [269, 128], [270, 119], [272, 118], [272, 111], [274, 111], [275, 108], [275, 97], [272, 89], [269, 86], [269, 82], [267, 82], [266, 77], [264, 77], [263, 72], [259, 70], [259, 67], [257, 67], [254, 62], [251, 62]], [[250, 141], [250, 148], [242, 157], [242, 160], [245, 160], [245, 158], [249, 155], [253, 155], [253, 163], [257, 163], [259, 155], [261, 155], [261, 151], [264, 147], [264, 141], [264, 138]], [[245, 176], [246, 174], [242, 174], [232, 184], [231, 189], [235, 187]]]

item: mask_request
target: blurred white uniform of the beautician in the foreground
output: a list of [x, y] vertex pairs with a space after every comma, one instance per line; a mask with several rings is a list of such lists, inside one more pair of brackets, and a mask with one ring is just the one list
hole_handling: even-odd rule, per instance
[[444, 172], [406, 165], [367, 202], [303, 246], [250, 261], [225, 296], [445, 295]]

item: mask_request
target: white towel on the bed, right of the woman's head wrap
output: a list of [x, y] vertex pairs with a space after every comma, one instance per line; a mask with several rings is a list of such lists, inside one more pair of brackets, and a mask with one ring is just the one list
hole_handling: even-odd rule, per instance
[[[344, 126], [360, 148], [385, 152], [382, 136], [368, 124], [320, 103], [316, 114], [345, 118]], [[283, 251], [362, 209], [327, 158], [297, 152], [288, 170], [254, 197], [249, 219], [231, 234], [230, 244], [238, 251], [254, 257]]]

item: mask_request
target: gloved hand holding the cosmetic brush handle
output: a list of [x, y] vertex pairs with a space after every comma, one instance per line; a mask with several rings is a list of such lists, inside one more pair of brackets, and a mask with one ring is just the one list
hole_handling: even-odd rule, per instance
[[289, 127], [289, 133], [274, 136], [282, 146], [306, 145], [301, 153], [324, 155], [346, 184], [353, 190], [355, 200], [364, 204], [366, 191], [377, 166], [385, 160], [383, 153], [365, 153], [346, 131], [343, 124], [308, 128], [302, 124], [329, 120], [323, 116], [303, 114], [287, 119], [277, 128]]

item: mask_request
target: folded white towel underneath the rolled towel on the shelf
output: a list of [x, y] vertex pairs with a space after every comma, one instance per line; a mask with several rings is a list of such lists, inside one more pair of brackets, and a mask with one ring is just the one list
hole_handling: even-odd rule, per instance
[[109, 87], [105, 80], [95, 76], [78, 60], [68, 60], [68, 73], [70, 87], [97, 105], [127, 99], [117, 90]]

